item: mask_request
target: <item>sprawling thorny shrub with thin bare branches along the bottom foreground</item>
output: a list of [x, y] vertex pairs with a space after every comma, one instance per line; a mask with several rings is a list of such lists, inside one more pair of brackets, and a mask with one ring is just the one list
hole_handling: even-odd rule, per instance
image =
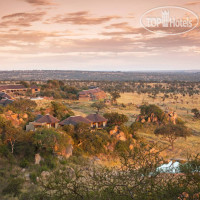
[[184, 199], [179, 198], [184, 192], [190, 199], [199, 199], [192, 197], [200, 191], [199, 173], [194, 173], [200, 158], [195, 165], [190, 161], [182, 174], [165, 175], [158, 170], [163, 162], [159, 151], [152, 150], [141, 144], [121, 157], [119, 168], [79, 165], [78, 169], [57, 170], [48, 180], [40, 180], [35, 199], [169, 200]]

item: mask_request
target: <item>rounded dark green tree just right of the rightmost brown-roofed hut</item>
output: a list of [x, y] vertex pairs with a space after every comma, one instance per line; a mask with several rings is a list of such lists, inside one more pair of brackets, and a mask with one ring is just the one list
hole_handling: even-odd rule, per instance
[[119, 114], [117, 112], [105, 113], [104, 117], [108, 119], [108, 125], [110, 126], [121, 126], [122, 124], [128, 122], [128, 117], [124, 114]]

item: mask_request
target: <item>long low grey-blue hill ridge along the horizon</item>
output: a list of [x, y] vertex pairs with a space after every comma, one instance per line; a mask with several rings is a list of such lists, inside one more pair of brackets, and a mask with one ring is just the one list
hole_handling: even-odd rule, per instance
[[0, 71], [0, 80], [45, 81], [56, 80], [88, 80], [88, 81], [189, 81], [199, 82], [200, 71], [59, 71], [59, 70], [30, 70], [30, 71]]

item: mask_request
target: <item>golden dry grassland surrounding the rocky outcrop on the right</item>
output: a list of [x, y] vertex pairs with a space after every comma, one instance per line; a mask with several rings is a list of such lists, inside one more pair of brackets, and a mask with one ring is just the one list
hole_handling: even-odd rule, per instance
[[[136, 116], [140, 113], [139, 106], [143, 103], [156, 104], [163, 110], [176, 111], [178, 117], [185, 121], [186, 126], [192, 130], [192, 135], [186, 140], [183, 138], [177, 139], [175, 142], [175, 149], [171, 151], [170, 147], [165, 151], [165, 157], [169, 159], [186, 159], [189, 154], [200, 153], [200, 120], [193, 118], [191, 109], [200, 109], [200, 95], [193, 95], [192, 97], [186, 95], [176, 95], [178, 99], [175, 100], [173, 97], [166, 98], [163, 101], [163, 94], [159, 94], [156, 98], [152, 98], [147, 94], [138, 93], [122, 93], [121, 97], [118, 99], [118, 105], [107, 106], [106, 109], [100, 111], [100, 114], [105, 112], [118, 112], [123, 113], [129, 117], [130, 125], [135, 121]], [[50, 100], [45, 100], [39, 104], [39, 107], [47, 108], [50, 106]], [[93, 102], [79, 102], [79, 101], [62, 101], [68, 107], [70, 107], [75, 115], [86, 116], [88, 114], [96, 112], [94, 108], [91, 107]], [[167, 146], [168, 143], [155, 136], [153, 133], [154, 129], [142, 129], [138, 132], [138, 135], [149, 142], [158, 142], [163, 146]]]

